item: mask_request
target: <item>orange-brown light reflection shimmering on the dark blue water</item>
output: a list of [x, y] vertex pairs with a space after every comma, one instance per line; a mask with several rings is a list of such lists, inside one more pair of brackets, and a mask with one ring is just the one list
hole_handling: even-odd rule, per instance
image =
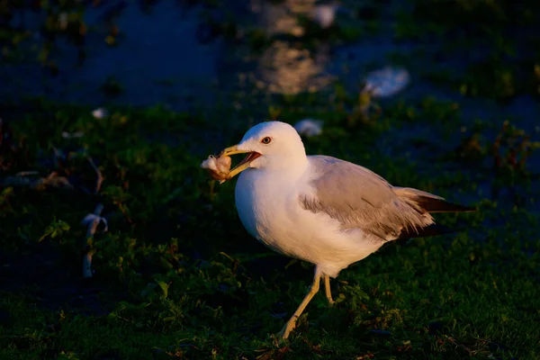
[[[251, 0], [251, 10], [267, 36], [288, 34], [302, 37], [304, 29], [298, 16], [309, 16], [316, 10], [315, 0], [286, 0], [269, 4]], [[320, 42], [317, 49], [306, 49], [300, 41], [275, 40], [258, 59], [257, 85], [269, 93], [298, 94], [315, 92], [333, 81], [325, 73], [329, 63], [329, 44]]]

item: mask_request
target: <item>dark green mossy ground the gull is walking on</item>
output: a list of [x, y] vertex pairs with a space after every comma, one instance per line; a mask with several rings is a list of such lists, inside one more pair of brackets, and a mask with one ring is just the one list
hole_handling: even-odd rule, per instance
[[[478, 24], [491, 19], [488, 10], [449, 3]], [[513, 23], [500, 22], [486, 39], [507, 39]], [[486, 80], [500, 58], [493, 67], [472, 64], [473, 76], [438, 78], [475, 89], [467, 95], [537, 99], [540, 47], [533, 49], [505, 63], [503, 72], [516, 74], [510, 85], [509, 76], [497, 86]], [[4, 146], [10, 166], [2, 178], [57, 171], [76, 188], [0, 185], [0, 358], [540, 358], [540, 193], [534, 157], [526, 157], [538, 134], [473, 122], [459, 103], [425, 98], [360, 119], [351, 116], [356, 99], [336, 86], [204, 114], [118, 108], [94, 119], [84, 106], [42, 100], [8, 109], [14, 144], [24, 140], [17, 152]], [[337, 306], [318, 294], [289, 342], [272, 334], [301, 302], [311, 266], [250, 238], [234, 209], [234, 182], [212, 183], [199, 168], [238, 142], [245, 119], [277, 113], [325, 121], [321, 137], [305, 140], [311, 154], [346, 158], [392, 184], [477, 209], [437, 216], [455, 234], [392, 243], [344, 270], [332, 284]], [[65, 139], [62, 131], [85, 136]], [[71, 155], [58, 161], [55, 148]], [[103, 173], [98, 194], [87, 157]], [[94, 277], [83, 281], [80, 222], [99, 202], [109, 230], [96, 233]]]

